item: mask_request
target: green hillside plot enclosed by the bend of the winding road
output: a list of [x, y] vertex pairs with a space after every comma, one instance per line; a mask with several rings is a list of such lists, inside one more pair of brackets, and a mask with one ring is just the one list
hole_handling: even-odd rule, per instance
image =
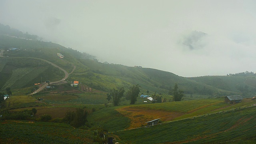
[[[60, 80], [64, 77], [64, 72], [46, 62], [42, 62], [42, 60], [30, 58], [0, 58], [0, 62], [6, 63], [0, 72], [0, 87], [2, 87], [2, 90], [7, 87], [19, 89], [33, 86], [34, 83], [41, 83], [41, 77], [43, 81]], [[38, 64], [40, 62], [42, 64]]]

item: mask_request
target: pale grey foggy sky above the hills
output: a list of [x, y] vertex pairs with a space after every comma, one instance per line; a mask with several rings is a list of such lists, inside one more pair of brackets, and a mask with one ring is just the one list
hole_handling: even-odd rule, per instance
[[0, 23], [100, 62], [184, 77], [256, 72], [255, 0], [0, 0]]

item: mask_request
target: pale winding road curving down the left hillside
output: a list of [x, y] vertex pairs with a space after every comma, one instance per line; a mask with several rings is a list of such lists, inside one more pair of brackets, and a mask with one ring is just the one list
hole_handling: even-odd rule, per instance
[[[5, 57], [3, 56], [4, 54], [4, 50], [1, 50], [0, 52], [0, 57]], [[12, 58], [31, 58], [31, 57], [12, 57]], [[62, 78], [61, 80], [58, 80], [56, 82], [50, 82], [50, 84], [54, 84], [54, 83], [57, 83], [57, 82], [61, 82], [61, 81], [64, 81], [68, 78], [69, 74], [71, 74], [72, 72], [74, 72], [74, 70], [76, 69], [76, 66], [74, 66], [72, 72], [68, 73], [66, 70], [64, 70], [63, 68], [61, 68], [60, 66], [57, 66], [56, 64], [52, 63], [52, 62], [49, 62], [48, 60], [44, 60], [44, 59], [41, 59], [41, 58], [34, 58], [34, 59], [38, 59], [38, 60], [43, 60], [49, 64], [52, 64], [52, 66], [55, 66], [56, 68], [59, 68], [60, 70], [62, 70], [64, 73], [65, 73], [65, 76], [64, 78]], [[46, 86], [48, 86], [49, 84], [48, 83], [44, 83], [44, 85], [42, 85], [40, 88], [38, 88], [38, 90], [34, 91], [33, 93], [29, 94], [29, 95], [32, 95], [32, 94], [36, 94], [38, 92], [40, 92], [41, 90], [43, 90], [44, 88], [46, 88]]]

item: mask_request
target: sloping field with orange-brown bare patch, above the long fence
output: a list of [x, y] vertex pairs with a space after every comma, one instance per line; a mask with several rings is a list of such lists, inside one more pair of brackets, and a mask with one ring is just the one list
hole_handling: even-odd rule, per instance
[[[93, 120], [93, 124], [100, 124], [101, 126], [108, 128], [108, 131], [122, 130], [120, 128], [137, 128], [145, 125], [145, 122], [156, 118], [161, 118], [162, 122], [168, 122], [171, 120], [178, 120], [182, 118], [188, 118], [192, 116], [199, 116], [203, 114], [209, 114], [213, 112], [220, 112], [223, 110], [229, 110], [241, 106], [250, 106], [255, 101], [251, 99], [244, 99], [239, 104], [227, 104], [223, 98], [205, 99], [205, 100], [191, 100], [182, 102], [166, 102], [158, 104], [136, 104], [136, 105], [124, 105], [118, 107], [107, 107], [102, 110], [98, 110], [89, 116], [90, 120]], [[111, 118], [108, 114], [117, 113], [118, 116], [129, 118], [129, 123], [120, 123], [114, 128], [108, 126], [108, 122], [116, 118]], [[104, 115], [104, 117], [102, 117]], [[99, 118], [99, 119], [98, 119]], [[108, 118], [106, 122], [104, 119]], [[100, 120], [103, 120], [102, 122]]]

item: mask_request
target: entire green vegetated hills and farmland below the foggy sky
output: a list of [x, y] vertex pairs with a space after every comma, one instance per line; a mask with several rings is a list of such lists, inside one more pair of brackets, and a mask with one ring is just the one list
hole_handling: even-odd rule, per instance
[[[254, 107], [237, 110], [256, 103], [250, 98], [256, 94], [252, 72], [184, 78], [152, 68], [101, 63], [72, 48], [8, 35], [0, 34], [6, 56], [0, 57], [1, 143], [102, 144], [103, 134], [120, 143], [256, 142]], [[42, 82], [64, 77], [45, 60], [74, 72], [65, 81], [50, 84], [52, 88], [28, 95]], [[74, 80], [78, 87], [70, 86]], [[3, 100], [4, 94], [11, 96]], [[154, 101], [138, 98], [140, 94]], [[236, 94], [248, 98], [224, 103], [223, 96]], [[225, 111], [233, 108], [236, 111]], [[161, 118], [161, 125], [143, 127], [156, 118]]]

